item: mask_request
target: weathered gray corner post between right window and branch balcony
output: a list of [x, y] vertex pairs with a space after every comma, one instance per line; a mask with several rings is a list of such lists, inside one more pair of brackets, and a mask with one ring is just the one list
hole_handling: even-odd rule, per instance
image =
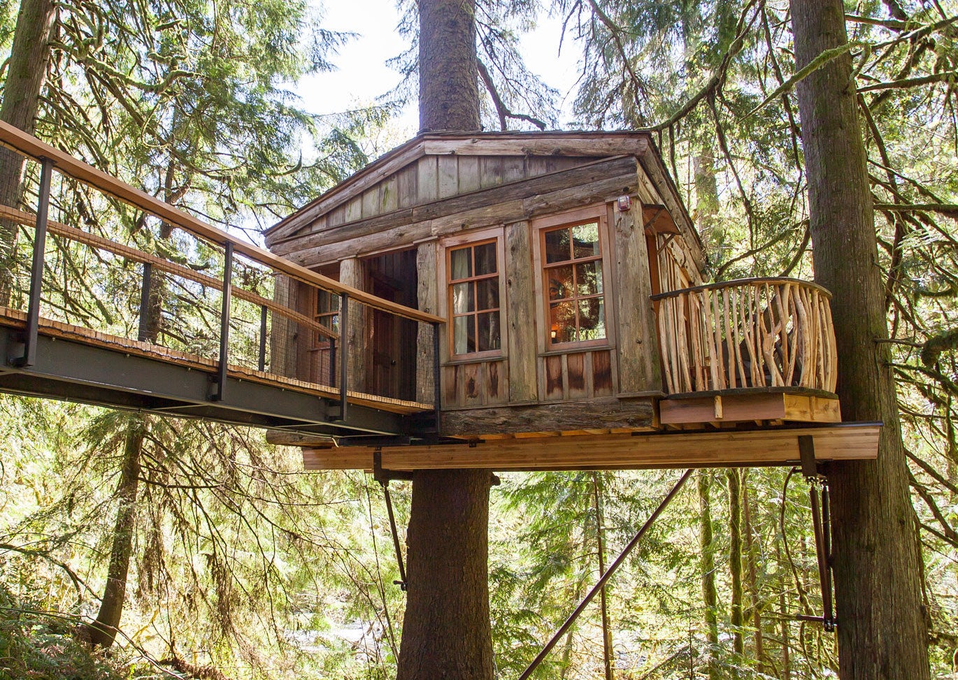
[[662, 387], [658, 339], [651, 302], [651, 277], [642, 206], [614, 211], [616, 313], [619, 338], [619, 389], [648, 392]]

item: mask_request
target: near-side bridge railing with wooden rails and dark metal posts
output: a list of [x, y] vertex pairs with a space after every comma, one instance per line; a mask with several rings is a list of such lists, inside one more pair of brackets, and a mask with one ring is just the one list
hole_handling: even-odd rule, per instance
[[443, 319], [278, 258], [9, 125], [0, 144], [0, 322], [24, 329], [8, 364], [33, 363], [40, 329], [194, 365], [211, 399], [229, 375], [339, 399], [333, 419], [351, 401], [434, 408]]

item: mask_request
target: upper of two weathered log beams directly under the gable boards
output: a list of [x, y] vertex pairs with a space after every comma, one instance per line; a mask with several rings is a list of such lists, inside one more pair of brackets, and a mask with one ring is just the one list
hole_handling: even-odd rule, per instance
[[[440, 168], [440, 195], [444, 192], [444, 166], [448, 161], [455, 161], [455, 158], [439, 159]], [[462, 159], [460, 159], [462, 160]], [[477, 160], [477, 159], [473, 159]], [[445, 170], [449, 170], [448, 167]], [[376, 234], [383, 228], [394, 226], [401, 222], [419, 222], [424, 219], [433, 219], [445, 215], [455, 215], [464, 213], [476, 208], [490, 206], [495, 203], [504, 203], [514, 199], [536, 198], [530, 202], [530, 208], [533, 210], [549, 210], [554, 204], [563, 203], [581, 205], [576, 202], [576, 198], [582, 195], [581, 200], [588, 200], [597, 193], [608, 195], [619, 191], [618, 184], [622, 184], [621, 189], [628, 188], [630, 192], [635, 191], [636, 183], [636, 161], [631, 157], [614, 158], [598, 163], [555, 172], [541, 177], [533, 177], [512, 184], [502, 185], [490, 188], [483, 192], [471, 193], [469, 195], [456, 195], [445, 199], [440, 199], [432, 203], [417, 206], [411, 212], [400, 211], [399, 215], [378, 215], [372, 219], [367, 219], [367, 196], [363, 195], [363, 220], [346, 224], [335, 229], [326, 229], [321, 233], [308, 234], [299, 238], [289, 239], [283, 243], [277, 243], [273, 250], [277, 253], [288, 253], [292, 251], [304, 250], [307, 248], [322, 245], [324, 243], [341, 242], [346, 238], [356, 238]], [[595, 187], [586, 188], [585, 185], [595, 184]], [[551, 204], [548, 200], [543, 203], [538, 200], [541, 194], [560, 193], [552, 198]], [[545, 198], [545, 196], [542, 196]], [[370, 210], [373, 207], [370, 206]], [[521, 217], [520, 217], [521, 218]]]

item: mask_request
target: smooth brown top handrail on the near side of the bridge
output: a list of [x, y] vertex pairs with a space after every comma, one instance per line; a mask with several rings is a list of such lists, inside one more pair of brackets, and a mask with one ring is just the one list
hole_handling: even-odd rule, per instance
[[445, 324], [444, 317], [428, 314], [419, 309], [402, 306], [389, 300], [383, 300], [371, 293], [349, 285], [344, 285], [322, 274], [317, 274], [306, 267], [274, 255], [268, 250], [227, 234], [221, 229], [217, 229], [193, 215], [184, 213], [155, 196], [135, 189], [116, 177], [106, 174], [103, 170], [97, 170], [93, 166], [87, 165], [68, 153], [64, 153], [55, 147], [43, 143], [34, 136], [28, 135], [26, 132], [3, 121], [0, 121], [0, 146], [11, 148], [18, 153], [30, 156], [36, 160], [43, 158], [51, 160], [57, 171], [69, 175], [84, 184], [88, 184], [103, 193], [115, 196], [125, 203], [136, 206], [151, 215], [160, 217], [168, 223], [193, 234], [197, 238], [202, 238], [217, 245], [225, 245], [227, 242], [232, 242], [233, 248], [237, 253], [241, 253], [250, 260], [260, 262], [275, 271], [282, 272], [293, 279], [337, 294], [346, 293], [356, 302], [397, 314], [398, 316], [412, 319], [413, 321]]

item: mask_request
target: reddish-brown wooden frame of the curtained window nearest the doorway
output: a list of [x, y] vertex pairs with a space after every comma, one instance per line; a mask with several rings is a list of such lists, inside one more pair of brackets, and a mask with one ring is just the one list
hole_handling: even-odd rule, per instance
[[[498, 285], [499, 289], [499, 306], [494, 307], [490, 310], [486, 309], [476, 309], [474, 311], [463, 313], [463, 314], [454, 314], [453, 313], [453, 296], [452, 296], [452, 251], [459, 250], [462, 248], [474, 248], [479, 245], [484, 245], [487, 243], [493, 243], [495, 246], [495, 266], [496, 271], [494, 274], [481, 275], [481, 276], [471, 276], [466, 279], [456, 279], [455, 283], [473, 283], [481, 280], [492, 280], [494, 279]], [[443, 344], [444, 354], [443, 362], [471, 362], [471, 361], [484, 361], [489, 359], [499, 359], [506, 356], [506, 347], [508, 343], [507, 329], [506, 329], [506, 306], [507, 301], [507, 289], [506, 289], [506, 276], [505, 276], [505, 252], [503, 250], [503, 230], [498, 229], [484, 229], [477, 232], [472, 232], [464, 235], [457, 235], [452, 238], [445, 238], [439, 241], [440, 253], [437, 254], [438, 259], [442, 262], [441, 271], [440, 271], [440, 290], [442, 291], [443, 299], [441, 304], [445, 308], [446, 319], [448, 322], [445, 324], [446, 328], [446, 340]], [[475, 256], [473, 255], [473, 258]], [[499, 316], [499, 347], [495, 350], [484, 350], [484, 351], [468, 351], [464, 353], [456, 353], [455, 351], [455, 321], [454, 319], [459, 316], [472, 316], [478, 317], [482, 312], [494, 311]], [[475, 321], [473, 322], [475, 323]]]

